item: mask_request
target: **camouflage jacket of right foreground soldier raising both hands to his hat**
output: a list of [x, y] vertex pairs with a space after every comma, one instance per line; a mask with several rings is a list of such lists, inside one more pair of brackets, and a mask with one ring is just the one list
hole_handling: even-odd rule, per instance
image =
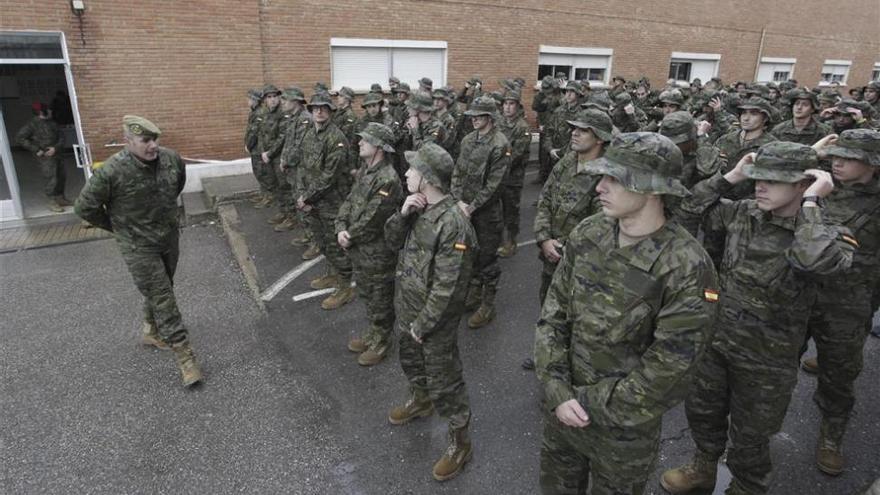
[[721, 199], [731, 184], [721, 174], [700, 182], [679, 214], [703, 216], [706, 239], [721, 246], [721, 312], [713, 346], [762, 369], [796, 366], [816, 280], [846, 270], [852, 239], [821, 208], [782, 218], [754, 200]]

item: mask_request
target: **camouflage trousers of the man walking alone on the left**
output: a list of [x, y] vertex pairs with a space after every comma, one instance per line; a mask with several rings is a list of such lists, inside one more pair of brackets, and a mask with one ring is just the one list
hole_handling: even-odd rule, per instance
[[137, 249], [121, 249], [121, 253], [134, 285], [144, 296], [144, 321], [154, 323], [167, 344], [185, 341], [187, 331], [174, 297], [174, 272], [180, 255], [177, 241], [158, 253]]

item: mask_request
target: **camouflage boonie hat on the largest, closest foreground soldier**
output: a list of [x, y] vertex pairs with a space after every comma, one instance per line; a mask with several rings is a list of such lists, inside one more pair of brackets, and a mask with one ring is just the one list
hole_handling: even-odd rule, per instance
[[639, 194], [690, 196], [678, 180], [681, 150], [656, 132], [618, 134], [601, 158], [587, 162], [585, 170], [614, 177], [628, 191]]

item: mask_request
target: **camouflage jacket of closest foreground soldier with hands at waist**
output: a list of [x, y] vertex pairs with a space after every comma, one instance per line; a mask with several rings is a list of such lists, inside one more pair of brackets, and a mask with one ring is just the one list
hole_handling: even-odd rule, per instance
[[715, 270], [674, 222], [627, 247], [618, 235], [604, 215], [571, 232], [535, 331], [535, 369], [550, 410], [577, 399], [599, 425], [657, 428], [711, 338]]

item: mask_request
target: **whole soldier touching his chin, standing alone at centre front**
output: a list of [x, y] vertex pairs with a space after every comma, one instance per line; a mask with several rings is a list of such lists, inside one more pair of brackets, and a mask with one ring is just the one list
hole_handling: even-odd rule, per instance
[[477, 237], [449, 195], [452, 157], [435, 143], [407, 151], [410, 195], [385, 224], [385, 238], [399, 250], [394, 310], [400, 365], [410, 398], [388, 421], [402, 425], [430, 416], [449, 421], [450, 445], [434, 464], [438, 481], [453, 478], [470, 460], [471, 411], [458, 352], [458, 323], [474, 266]]

